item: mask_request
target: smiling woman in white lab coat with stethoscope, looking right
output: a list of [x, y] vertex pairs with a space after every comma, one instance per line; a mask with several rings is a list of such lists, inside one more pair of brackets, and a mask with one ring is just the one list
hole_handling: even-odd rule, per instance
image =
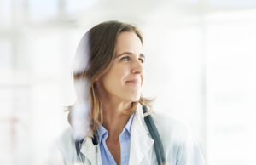
[[[70, 108], [72, 127], [52, 143], [51, 164], [205, 164], [191, 130], [152, 111], [151, 100], [140, 94], [144, 61], [143, 37], [135, 26], [108, 21], [85, 33], [74, 64], [78, 100]], [[162, 152], [147, 125], [147, 109]]]

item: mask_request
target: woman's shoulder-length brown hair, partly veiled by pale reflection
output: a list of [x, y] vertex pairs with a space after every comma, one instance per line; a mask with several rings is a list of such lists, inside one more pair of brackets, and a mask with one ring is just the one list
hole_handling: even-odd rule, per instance
[[[136, 26], [119, 21], [107, 21], [92, 27], [79, 42], [74, 59], [73, 78], [78, 98], [77, 102], [87, 105], [90, 117], [84, 119], [84, 122], [87, 125], [90, 123], [90, 133], [98, 128], [98, 123], [102, 124], [103, 122], [102, 101], [96, 90], [95, 82], [112, 65], [117, 37], [125, 31], [134, 32], [143, 43], [142, 33]], [[143, 98], [141, 95], [140, 100], [133, 102], [131, 110], [123, 111], [123, 113], [127, 115], [134, 113], [138, 103], [147, 105], [152, 109], [150, 105], [152, 101]], [[70, 106], [67, 110], [70, 111], [68, 121], [71, 124], [72, 120], [76, 120], [76, 118], [71, 117], [73, 106]]]

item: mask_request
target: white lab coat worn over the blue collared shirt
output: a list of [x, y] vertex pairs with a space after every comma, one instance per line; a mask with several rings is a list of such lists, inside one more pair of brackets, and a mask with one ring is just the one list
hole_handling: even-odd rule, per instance
[[[154, 111], [151, 113], [166, 154], [167, 165], [204, 165], [201, 150], [193, 133], [186, 124]], [[96, 164], [96, 148], [90, 138], [80, 145], [83, 164]], [[100, 148], [98, 147], [98, 150]], [[101, 151], [98, 151], [98, 162], [102, 165]], [[49, 164], [82, 164], [76, 154], [73, 129], [67, 128], [55, 139], [49, 149]], [[137, 105], [137, 112], [131, 124], [131, 151], [129, 165], [157, 165], [154, 151], [154, 139], [148, 132], [143, 118], [142, 105]], [[103, 163], [104, 165], [104, 163]]]

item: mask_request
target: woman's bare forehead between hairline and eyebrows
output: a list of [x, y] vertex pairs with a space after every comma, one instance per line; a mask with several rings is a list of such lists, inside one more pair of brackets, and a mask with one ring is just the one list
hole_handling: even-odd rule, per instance
[[115, 49], [116, 53], [121, 53], [122, 51], [142, 53], [143, 44], [134, 32], [122, 32], [117, 37]]

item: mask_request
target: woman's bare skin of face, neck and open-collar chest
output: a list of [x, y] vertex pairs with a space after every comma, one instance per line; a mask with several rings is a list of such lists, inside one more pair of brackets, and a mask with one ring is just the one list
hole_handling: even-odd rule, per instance
[[143, 45], [134, 32], [122, 32], [117, 37], [112, 65], [98, 81], [103, 105], [103, 127], [108, 130], [106, 144], [115, 162], [121, 164], [119, 134], [131, 116], [122, 111], [131, 109], [140, 99], [144, 70]]

